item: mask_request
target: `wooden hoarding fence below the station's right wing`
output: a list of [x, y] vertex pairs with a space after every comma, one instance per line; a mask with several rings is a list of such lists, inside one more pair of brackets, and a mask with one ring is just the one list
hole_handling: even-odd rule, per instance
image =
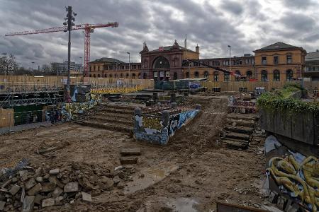
[[[212, 90], [214, 87], [219, 87], [220, 91], [240, 91], [240, 88], [247, 88], [248, 92], [254, 91], [257, 87], [264, 87], [265, 90], [269, 91], [272, 88], [283, 88], [286, 83], [292, 82], [250, 82], [250, 81], [239, 81], [239, 82], [211, 82], [205, 81], [201, 82], [201, 86], [206, 87], [208, 90]], [[296, 82], [295, 82], [296, 83]], [[301, 83], [300, 81], [298, 83]], [[315, 88], [319, 88], [319, 81], [309, 81], [303, 82], [303, 86], [308, 89], [310, 92], [315, 90]]]

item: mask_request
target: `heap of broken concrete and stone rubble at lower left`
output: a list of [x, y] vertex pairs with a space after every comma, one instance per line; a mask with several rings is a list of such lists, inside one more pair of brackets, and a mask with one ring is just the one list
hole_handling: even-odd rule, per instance
[[0, 211], [33, 211], [49, 206], [92, 201], [104, 191], [123, 189], [133, 167], [108, 170], [97, 165], [64, 163], [58, 167], [25, 166], [20, 170], [2, 169], [0, 177]]

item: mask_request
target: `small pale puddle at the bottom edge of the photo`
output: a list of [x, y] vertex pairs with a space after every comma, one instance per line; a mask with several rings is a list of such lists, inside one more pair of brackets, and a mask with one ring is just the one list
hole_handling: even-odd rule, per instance
[[178, 198], [169, 199], [166, 205], [178, 212], [197, 212], [194, 207], [198, 205], [198, 202], [195, 199]]

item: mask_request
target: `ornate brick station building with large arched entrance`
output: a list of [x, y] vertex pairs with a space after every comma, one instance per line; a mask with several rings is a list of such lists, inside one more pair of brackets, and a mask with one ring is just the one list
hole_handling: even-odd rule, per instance
[[[201, 64], [218, 66], [245, 76], [245, 80], [291, 81], [303, 76], [306, 51], [301, 47], [276, 42], [257, 49], [254, 55], [199, 59], [199, 47], [181, 47], [175, 40], [172, 46], [150, 51], [144, 43], [140, 63], [128, 63], [101, 58], [90, 63], [91, 77], [148, 78], [170, 81], [181, 78], [208, 78], [209, 81], [240, 81], [228, 73], [216, 71]], [[191, 59], [194, 62], [186, 62]], [[201, 64], [200, 64], [201, 63]]]

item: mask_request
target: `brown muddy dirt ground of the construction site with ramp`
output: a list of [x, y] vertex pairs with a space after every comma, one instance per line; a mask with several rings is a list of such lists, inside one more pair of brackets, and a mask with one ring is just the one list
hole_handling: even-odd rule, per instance
[[[201, 114], [166, 146], [69, 122], [0, 136], [0, 165], [13, 167], [26, 158], [30, 167], [46, 170], [85, 167], [94, 185], [91, 201], [74, 198], [37, 211], [213, 211], [216, 201], [259, 207], [262, 142], [244, 151], [220, 147], [228, 97], [192, 96], [191, 101], [201, 104]], [[121, 165], [123, 148], [140, 148], [137, 164]], [[99, 187], [103, 177], [113, 179], [110, 187]]]

